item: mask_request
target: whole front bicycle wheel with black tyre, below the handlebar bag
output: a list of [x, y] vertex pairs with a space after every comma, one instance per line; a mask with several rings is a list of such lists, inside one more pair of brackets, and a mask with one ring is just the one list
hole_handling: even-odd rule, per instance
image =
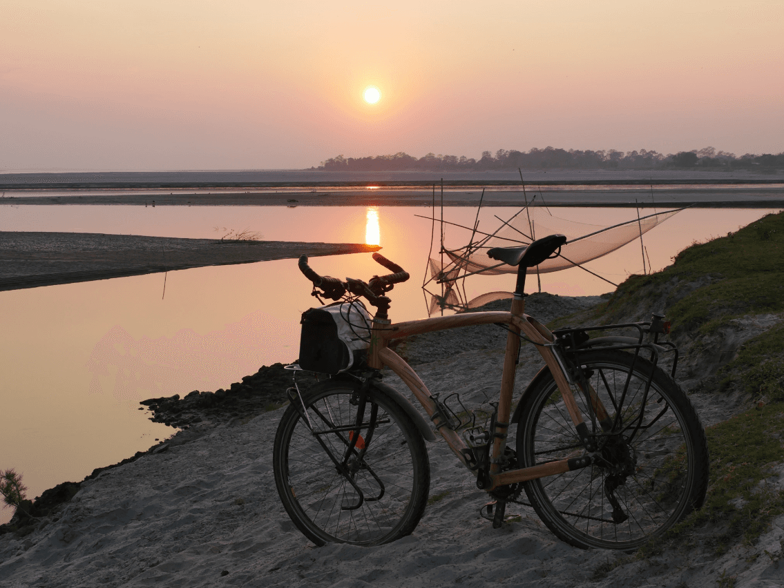
[[[346, 427], [355, 425], [358, 406], [352, 399], [358, 399], [359, 386], [351, 381], [317, 384], [303, 393], [301, 403], [289, 405], [275, 434], [273, 467], [281, 502], [318, 546], [390, 543], [409, 535], [426, 507], [430, 463], [424, 439], [411, 417], [379, 389], [366, 393], [367, 427], [357, 442], [365, 446], [364, 455], [355, 446], [343, 471], [332, 459], [343, 460], [352, 441], [354, 432]], [[318, 435], [303, 418], [303, 405]]]

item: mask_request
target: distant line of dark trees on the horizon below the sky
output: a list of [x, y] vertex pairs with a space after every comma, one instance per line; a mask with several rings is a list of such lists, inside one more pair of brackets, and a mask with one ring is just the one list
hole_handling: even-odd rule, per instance
[[325, 171], [487, 171], [513, 170], [517, 168], [561, 168], [561, 169], [684, 169], [711, 170], [728, 169], [784, 169], [784, 153], [753, 155], [746, 153], [737, 157], [735, 153], [717, 151], [713, 147], [701, 150], [681, 151], [664, 155], [656, 151], [639, 150], [624, 153], [614, 149], [608, 151], [564, 150], [546, 147], [533, 148], [526, 152], [499, 149], [493, 155], [484, 151], [479, 160], [456, 155], [434, 155], [412, 157], [408, 153], [377, 155], [375, 157], [331, 157], [322, 161], [318, 169]]

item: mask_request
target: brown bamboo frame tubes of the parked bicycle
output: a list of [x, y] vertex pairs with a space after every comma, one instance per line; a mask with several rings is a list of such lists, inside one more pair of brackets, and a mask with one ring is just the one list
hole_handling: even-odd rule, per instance
[[[501, 378], [498, 413], [495, 418], [496, 426], [495, 431], [490, 431], [491, 433], [499, 433], [500, 435], [494, 435], [492, 437], [493, 445], [490, 450], [489, 471], [490, 485], [485, 488], [487, 491], [491, 491], [498, 486], [524, 482], [536, 478], [544, 478], [546, 476], [561, 474], [565, 471], [575, 469], [574, 460], [558, 460], [533, 467], [524, 467], [522, 469], [504, 472], [500, 471], [500, 458], [503, 456], [504, 448], [506, 446], [506, 430], [510, 425], [512, 391], [514, 389], [515, 366], [517, 363], [517, 352], [520, 348], [519, 335], [521, 333], [523, 333], [525, 337], [528, 337], [528, 339], [539, 344], [536, 345], [536, 348], [550, 368], [550, 373], [553, 374], [558, 389], [561, 391], [561, 397], [564, 400], [566, 409], [568, 410], [570, 417], [572, 417], [572, 422], [575, 424], [575, 427], [583, 424], [583, 415], [580, 413], [577, 402], [575, 402], [572, 387], [569, 385], [568, 378], [564, 374], [561, 363], [553, 351], [555, 342], [554, 335], [536, 319], [524, 314], [524, 308], [524, 301], [522, 298], [514, 298], [510, 312], [471, 312], [467, 314], [438, 316], [430, 319], [412, 320], [405, 323], [394, 324], [386, 319], [374, 319], [372, 325], [371, 344], [370, 349], [368, 350], [368, 365], [376, 370], [380, 370], [383, 366], [388, 366], [390, 370], [396, 373], [397, 376], [405, 382], [408, 388], [411, 389], [413, 395], [416, 396], [416, 399], [419, 400], [419, 403], [426, 410], [428, 416], [434, 421], [437, 430], [448, 443], [452, 452], [456, 454], [458, 459], [466, 467], [469, 467], [469, 464], [466, 462], [466, 456], [463, 455], [462, 451], [463, 449], [467, 449], [466, 443], [463, 442], [463, 439], [460, 438], [456, 431], [453, 431], [446, 426], [445, 422], [442, 422], [439, 409], [433, 399], [430, 398], [430, 391], [423, 381], [419, 379], [419, 376], [413, 368], [409, 366], [400, 355], [397, 355], [397, 353], [388, 348], [387, 345], [391, 340], [407, 337], [408, 335], [430, 333], [432, 331], [458, 328], [460, 326], [496, 323], [508, 325], [510, 332], [506, 336], [506, 353], [503, 360], [503, 375]], [[594, 395], [591, 396], [593, 397]], [[592, 398], [592, 403], [597, 401], [597, 398]], [[601, 405], [594, 406], [593, 408], [597, 413], [601, 414], [604, 412], [604, 407]], [[572, 464], [569, 462], [572, 462]]]

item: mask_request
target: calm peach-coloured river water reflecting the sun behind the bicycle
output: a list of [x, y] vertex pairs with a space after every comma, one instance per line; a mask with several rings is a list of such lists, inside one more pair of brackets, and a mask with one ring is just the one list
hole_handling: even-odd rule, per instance
[[[473, 225], [474, 208], [448, 207], [445, 219]], [[767, 210], [690, 209], [644, 235], [645, 263], [653, 270], [694, 241], [723, 236]], [[430, 250], [430, 207], [132, 207], [0, 206], [0, 230], [131, 233], [220, 238], [248, 229], [263, 240], [362, 243], [412, 274], [390, 293], [395, 320], [426, 316], [420, 286]], [[440, 212], [438, 213], [440, 215]], [[485, 209], [480, 226], [495, 228]], [[635, 218], [633, 209], [553, 209], [588, 225]], [[586, 233], [590, 231], [586, 226]], [[439, 227], [435, 227], [437, 250]], [[470, 233], [447, 226], [445, 243]], [[322, 275], [367, 279], [386, 272], [369, 254], [311, 258]], [[620, 283], [643, 272], [639, 241], [586, 264]], [[613, 287], [580, 269], [543, 274], [542, 290], [561, 295], [602, 294]], [[466, 282], [473, 298], [511, 290], [514, 277], [477, 276]], [[537, 288], [528, 280], [528, 290]], [[168, 274], [0, 292], [2, 380], [0, 469], [24, 474], [28, 495], [154, 445], [174, 432], [147, 420], [139, 401], [228, 388], [262, 365], [298, 355], [299, 316], [318, 305], [292, 259], [188, 269]], [[11, 509], [0, 511], [7, 521]]]

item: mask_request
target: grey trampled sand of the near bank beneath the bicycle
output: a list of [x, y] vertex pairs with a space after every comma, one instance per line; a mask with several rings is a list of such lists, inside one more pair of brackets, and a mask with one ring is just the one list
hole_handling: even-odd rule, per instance
[[[596, 299], [529, 297], [547, 319]], [[539, 306], [537, 307], [537, 304]], [[468, 406], [498, 389], [503, 352], [492, 327], [466, 335], [472, 351], [439, 359], [419, 338], [417, 371], [433, 391], [458, 391]], [[455, 333], [459, 331], [454, 331]], [[453, 335], [452, 337], [456, 337]], [[501, 335], [503, 337], [503, 334]], [[484, 348], [482, 348], [484, 347]], [[539, 369], [527, 346], [517, 394]], [[536, 356], [535, 356], [536, 355]], [[405, 390], [396, 378], [387, 378]], [[691, 395], [704, 424], [726, 418], [717, 397]], [[782, 586], [784, 517], [753, 547], [666, 552], [601, 569], [622, 554], [579, 550], [556, 539], [528, 507], [501, 529], [480, 518], [486, 498], [444, 442], [428, 443], [431, 503], [412, 536], [380, 547], [316, 548], [294, 527], [276, 492], [271, 447], [281, 409], [203, 422], [132, 463], [103, 471], [26, 536], [0, 536], [0, 586]], [[784, 488], [784, 467], [766, 481]], [[710, 532], [710, 530], [708, 531]], [[699, 543], [699, 537], [696, 538]]]

